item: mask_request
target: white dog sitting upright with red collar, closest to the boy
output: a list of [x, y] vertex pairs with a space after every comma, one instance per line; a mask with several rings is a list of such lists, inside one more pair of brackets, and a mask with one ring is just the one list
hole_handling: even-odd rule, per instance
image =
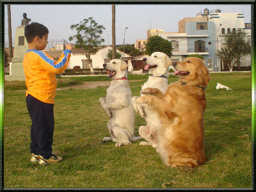
[[103, 67], [112, 79], [107, 90], [106, 98], [100, 97], [100, 104], [108, 114], [107, 124], [111, 137], [104, 137], [103, 141], [112, 140], [115, 147], [128, 145], [131, 141], [140, 140], [134, 137], [134, 109], [132, 107], [132, 93], [127, 81], [127, 63], [122, 60], [111, 60]]

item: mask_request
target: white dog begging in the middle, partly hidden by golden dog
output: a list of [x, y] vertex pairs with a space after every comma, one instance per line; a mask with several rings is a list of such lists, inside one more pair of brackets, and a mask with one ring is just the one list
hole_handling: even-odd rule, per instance
[[[165, 93], [168, 87], [167, 77], [172, 60], [163, 52], [153, 52], [151, 56], [143, 58], [143, 61], [146, 63], [145, 70], [150, 69], [148, 74], [152, 74], [152, 76], [148, 77], [148, 81], [141, 86], [141, 90], [145, 88], [158, 88], [161, 92]], [[161, 120], [157, 112], [149, 108], [147, 104], [137, 104], [136, 100], [138, 98], [132, 97], [132, 104], [134, 110], [137, 113], [139, 112], [141, 117], [145, 118], [147, 122], [147, 125], [140, 126], [139, 134], [148, 141], [141, 141], [140, 145], [152, 145], [152, 147], [157, 148], [157, 132], [161, 127]]]

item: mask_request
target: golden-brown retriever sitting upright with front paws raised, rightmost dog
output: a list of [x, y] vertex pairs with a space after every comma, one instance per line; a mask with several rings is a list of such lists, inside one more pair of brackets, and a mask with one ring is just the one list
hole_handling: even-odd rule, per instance
[[157, 151], [168, 166], [195, 167], [205, 162], [204, 123], [205, 92], [209, 71], [200, 58], [186, 58], [173, 63], [179, 81], [162, 93], [146, 88], [137, 102], [154, 108], [162, 121]]

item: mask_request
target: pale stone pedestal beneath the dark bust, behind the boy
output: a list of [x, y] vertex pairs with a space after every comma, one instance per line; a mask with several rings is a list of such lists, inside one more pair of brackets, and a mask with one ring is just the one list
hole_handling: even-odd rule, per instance
[[25, 26], [19, 26], [15, 33], [12, 74], [4, 76], [4, 81], [25, 81], [23, 58], [28, 50], [28, 42], [24, 36]]

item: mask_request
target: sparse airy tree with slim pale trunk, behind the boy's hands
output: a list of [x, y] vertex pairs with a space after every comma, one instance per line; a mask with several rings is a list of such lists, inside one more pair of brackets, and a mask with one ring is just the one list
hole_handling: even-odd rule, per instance
[[104, 26], [99, 25], [92, 17], [89, 17], [78, 24], [70, 26], [70, 28], [72, 30], [76, 29], [76, 35], [70, 36], [68, 40], [76, 40], [75, 47], [83, 48], [87, 51], [86, 58], [89, 61], [91, 72], [93, 72], [90, 54], [97, 52], [97, 46], [104, 42], [104, 38], [100, 38], [103, 29], [105, 29]]

